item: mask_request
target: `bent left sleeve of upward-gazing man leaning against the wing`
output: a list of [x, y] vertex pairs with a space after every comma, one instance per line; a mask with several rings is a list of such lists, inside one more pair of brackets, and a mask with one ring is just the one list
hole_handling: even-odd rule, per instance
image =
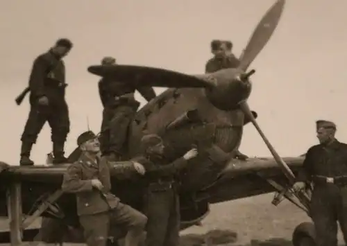
[[69, 166], [62, 180], [62, 191], [66, 193], [92, 191], [92, 180], [82, 180], [81, 173], [80, 164], [75, 163]]

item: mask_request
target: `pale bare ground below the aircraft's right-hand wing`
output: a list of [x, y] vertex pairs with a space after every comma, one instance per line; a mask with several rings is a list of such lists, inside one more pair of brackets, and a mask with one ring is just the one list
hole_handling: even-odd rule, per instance
[[[291, 245], [296, 225], [310, 218], [287, 201], [273, 206], [272, 197], [272, 194], [259, 195], [213, 205], [201, 227], [182, 231], [180, 246], [200, 246], [205, 238], [214, 238], [210, 245]], [[0, 223], [1, 229], [6, 224]], [[219, 244], [223, 239], [233, 243]], [[340, 234], [339, 245], [342, 243]]]

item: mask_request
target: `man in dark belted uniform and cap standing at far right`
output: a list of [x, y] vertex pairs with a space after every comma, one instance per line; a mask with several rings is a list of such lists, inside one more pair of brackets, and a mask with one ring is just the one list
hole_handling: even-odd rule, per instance
[[316, 121], [316, 131], [320, 143], [307, 151], [294, 188], [313, 184], [310, 213], [316, 243], [336, 246], [337, 221], [347, 243], [347, 144], [335, 139], [331, 121]]

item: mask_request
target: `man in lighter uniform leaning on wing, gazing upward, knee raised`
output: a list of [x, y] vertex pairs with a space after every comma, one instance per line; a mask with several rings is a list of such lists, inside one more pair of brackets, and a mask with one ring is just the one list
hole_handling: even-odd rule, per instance
[[[100, 144], [96, 135], [84, 132], [77, 144], [82, 155], [67, 168], [62, 190], [76, 193], [77, 213], [87, 245], [105, 246], [110, 224], [124, 225], [128, 229], [125, 245], [137, 245], [146, 226], [146, 216], [110, 193], [110, 166], [105, 157], [99, 157]], [[144, 173], [141, 165], [134, 165], [140, 174]]]

